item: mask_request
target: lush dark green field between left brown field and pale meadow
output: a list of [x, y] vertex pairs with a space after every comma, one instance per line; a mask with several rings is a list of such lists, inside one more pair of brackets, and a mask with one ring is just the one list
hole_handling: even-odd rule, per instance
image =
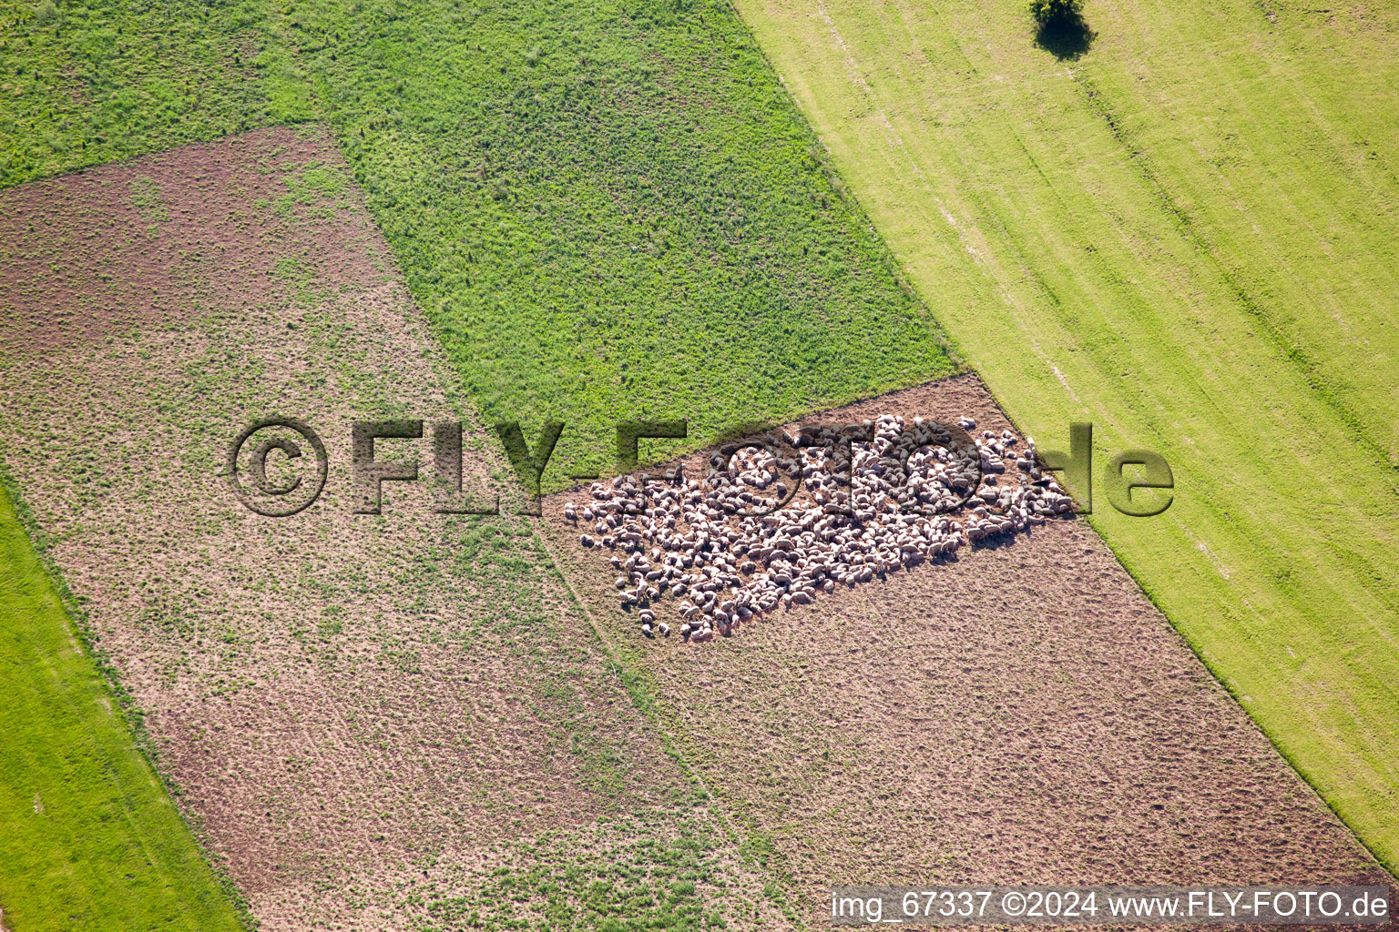
[[568, 425], [547, 486], [617, 421], [688, 418], [660, 456], [953, 372], [726, 4], [312, 0], [273, 35], [487, 422]]

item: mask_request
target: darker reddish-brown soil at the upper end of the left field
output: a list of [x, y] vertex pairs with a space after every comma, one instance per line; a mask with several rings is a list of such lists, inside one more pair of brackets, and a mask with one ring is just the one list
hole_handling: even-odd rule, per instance
[[43, 354], [200, 303], [250, 307], [294, 265], [322, 288], [388, 279], [371, 218], [348, 201], [297, 211], [292, 172], [339, 165], [326, 140], [269, 129], [102, 165], [0, 197], [0, 347]]

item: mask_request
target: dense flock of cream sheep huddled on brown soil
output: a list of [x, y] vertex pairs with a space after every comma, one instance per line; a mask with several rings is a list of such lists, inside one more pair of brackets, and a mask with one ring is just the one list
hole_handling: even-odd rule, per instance
[[705, 641], [746, 622], [869, 583], [961, 546], [1023, 532], [1073, 507], [1035, 461], [1034, 440], [895, 415], [729, 443], [701, 483], [683, 469], [620, 475], [569, 502], [583, 546], [613, 551], [623, 608], [669, 636], [656, 605], [679, 599], [680, 636]]

